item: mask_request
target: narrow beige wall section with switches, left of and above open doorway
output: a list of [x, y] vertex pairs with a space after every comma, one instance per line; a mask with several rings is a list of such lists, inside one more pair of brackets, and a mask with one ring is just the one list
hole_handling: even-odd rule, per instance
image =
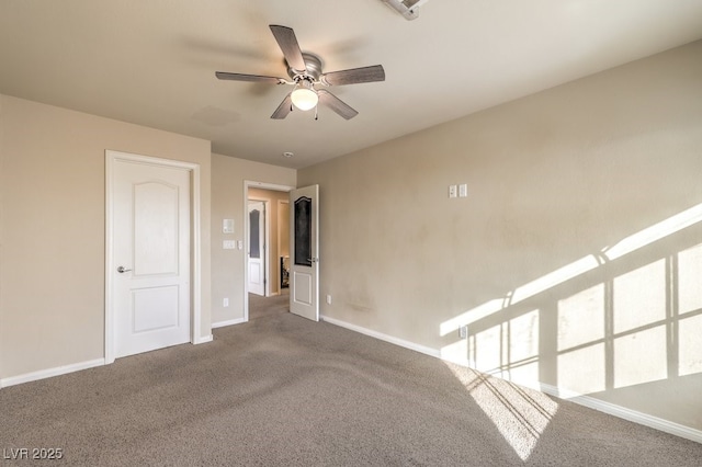
[[[224, 240], [245, 240], [246, 181], [296, 186], [293, 169], [212, 155], [212, 322], [230, 323], [245, 318], [245, 250], [223, 250]], [[222, 234], [222, 219], [235, 219], [234, 235]], [[223, 299], [229, 298], [229, 307]]]

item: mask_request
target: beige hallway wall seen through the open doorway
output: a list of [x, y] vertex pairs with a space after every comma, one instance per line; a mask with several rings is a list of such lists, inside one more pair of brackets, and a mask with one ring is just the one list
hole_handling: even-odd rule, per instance
[[[279, 202], [287, 202], [287, 192], [279, 192], [261, 189], [249, 189], [249, 200], [268, 201], [269, 205], [269, 219], [270, 219], [270, 243], [269, 243], [269, 281], [271, 294], [278, 294], [281, 292], [281, 254], [288, 254], [290, 244], [290, 227], [288, 218], [284, 217], [281, 223], [281, 216], [279, 209]], [[282, 224], [282, 225], [281, 225]], [[283, 247], [281, 249], [281, 247]], [[283, 253], [281, 253], [281, 250]]]

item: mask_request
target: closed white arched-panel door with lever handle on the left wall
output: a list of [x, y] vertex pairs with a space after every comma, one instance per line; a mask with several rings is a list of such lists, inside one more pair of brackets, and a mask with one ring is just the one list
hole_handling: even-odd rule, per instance
[[115, 356], [190, 342], [190, 171], [116, 160]]

